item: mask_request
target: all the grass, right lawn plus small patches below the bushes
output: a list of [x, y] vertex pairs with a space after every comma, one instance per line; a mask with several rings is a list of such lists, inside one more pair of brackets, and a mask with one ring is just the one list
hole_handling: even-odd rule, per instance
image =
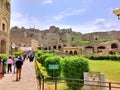
[[[120, 82], [120, 62], [107, 60], [89, 60], [90, 71], [104, 73], [105, 79]], [[49, 90], [54, 90], [54, 83], [46, 83]], [[57, 90], [68, 90], [65, 83], [58, 83]], [[82, 89], [83, 90], [83, 89]]]

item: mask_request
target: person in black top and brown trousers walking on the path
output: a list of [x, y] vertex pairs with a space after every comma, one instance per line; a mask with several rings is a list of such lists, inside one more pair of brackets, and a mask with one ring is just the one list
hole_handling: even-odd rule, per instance
[[21, 57], [18, 57], [18, 60], [16, 61], [15, 65], [16, 65], [16, 81], [18, 81], [21, 79], [21, 70], [23, 65]]

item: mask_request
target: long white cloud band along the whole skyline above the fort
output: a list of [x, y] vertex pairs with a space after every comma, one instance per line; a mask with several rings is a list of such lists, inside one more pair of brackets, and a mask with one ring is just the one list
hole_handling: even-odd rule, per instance
[[[67, 14], [71, 15], [71, 14]], [[81, 32], [81, 33], [90, 33], [90, 32], [99, 32], [99, 31], [110, 31], [110, 30], [117, 30], [120, 28], [120, 22], [110, 19], [96, 19], [93, 21], [88, 21], [85, 23], [80, 23], [76, 25], [63, 25], [61, 23], [54, 22], [48, 22], [46, 20], [40, 21], [39, 18], [35, 17], [29, 17], [27, 15], [22, 15], [20, 13], [12, 13], [11, 18], [11, 27], [12, 26], [18, 26], [18, 27], [36, 27], [40, 30], [45, 30], [49, 28], [50, 26], [54, 25], [59, 28], [72, 28], [73, 31]]]

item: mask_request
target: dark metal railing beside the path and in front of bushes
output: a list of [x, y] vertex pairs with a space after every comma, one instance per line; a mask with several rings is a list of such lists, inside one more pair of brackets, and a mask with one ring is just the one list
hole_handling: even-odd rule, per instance
[[120, 83], [118, 82], [100, 82], [100, 81], [88, 81], [88, 80], [72, 79], [72, 78], [44, 77], [41, 74], [40, 69], [37, 68], [37, 70], [39, 73], [38, 80], [39, 80], [40, 90], [45, 90], [44, 89], [45, 85], [49, 86], [48, 82], [52, 82], [52, 86], [54, 86], [54, 90], [58, 90], [58, 84], [60, 83], [79, 85], [79, 86], [84, 86], [84, 87], [85, 86], [88, 86], [88, 87], [94, 86], [94, 87], [99, 87], [99, 88], [104, 87], [106, 88], [105, 90], [114, 90], [114, 89], [120, 90]]

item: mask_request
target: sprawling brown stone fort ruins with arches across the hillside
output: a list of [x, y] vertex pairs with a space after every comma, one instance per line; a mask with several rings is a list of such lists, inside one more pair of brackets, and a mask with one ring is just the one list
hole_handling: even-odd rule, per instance
[[[55, 26], [46, 30], [14, 27], [11, 29], [10, 35], [11, 42], [15, 43], [17, 47], [23, 44], [40, 50], [59, 50], [71, 55], [120, 54], [120, 31], [81, 34], [73, 32], [72, 29], [59, 29]], [[37, 44], [31, 43], [31, 40]], [[90, 43], [87, 45], [71, 43], [71, 41], [79, 40], [87, 40]]]

